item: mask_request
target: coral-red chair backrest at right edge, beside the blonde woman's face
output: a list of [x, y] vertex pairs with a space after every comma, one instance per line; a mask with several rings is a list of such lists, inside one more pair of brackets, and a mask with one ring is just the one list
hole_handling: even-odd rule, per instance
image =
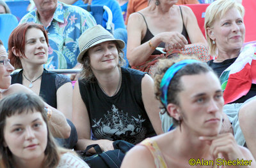
[[255, 0], [243, 0], [242, 4], [244, 6], [244, 25], [246, 28], [244, 42], [255, 41], [256, 39], [256, 22], [255, 22], [255, 10], [256, 1]]

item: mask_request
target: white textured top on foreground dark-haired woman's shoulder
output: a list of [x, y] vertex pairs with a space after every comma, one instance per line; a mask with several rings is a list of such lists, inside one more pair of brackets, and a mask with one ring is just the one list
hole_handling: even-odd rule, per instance
[[86, 162], [72, 153], [64, 153], [56, 168], [90, 168]]

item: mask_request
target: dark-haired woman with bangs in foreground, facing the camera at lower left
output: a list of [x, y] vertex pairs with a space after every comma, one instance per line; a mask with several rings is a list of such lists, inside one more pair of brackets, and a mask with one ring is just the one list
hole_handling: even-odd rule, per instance
[[12, 94], [0, 101], [0, 165], [3, 168], [89, 166], [71, 150], [54, 143], [51, 113], [35, 94]]

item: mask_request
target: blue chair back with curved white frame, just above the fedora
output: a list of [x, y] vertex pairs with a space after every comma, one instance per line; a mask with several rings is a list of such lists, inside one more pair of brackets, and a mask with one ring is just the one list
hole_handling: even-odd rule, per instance
[[106, 11], [108, 13], [108, 22], [106, 23], [106, 25], [102, 25], [102, 27], [106, 27], [108, 31], [113, 32], [114, 30], [114, 24], [112, 22], [113, 14], [112, 14], [112, 11], [108, 8], [108, 6], [84, 4], [84, 5], [79, 5], [79, 7], [89, 11], [95, 18], [97, 24], [99, 25], [103, 24], [103, 13], [104, 11]]

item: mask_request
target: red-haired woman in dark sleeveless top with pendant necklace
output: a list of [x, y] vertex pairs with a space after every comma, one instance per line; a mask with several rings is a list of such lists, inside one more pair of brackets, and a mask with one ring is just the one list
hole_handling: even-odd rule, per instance
[[[42, 25], [24, 23], [16, 27], [8, 41], [9, 59], [15, 69], [12, 84], [20, 83], [40, 95], [47, 104], [61, 111], [66, 118], [72, 113], [72, 84], [67, 76], [44, 69], [48, 59], [48, 37]], [[68, 120], [72, 126], [72, 123]], [[60, 135], [61, 133], [61, 135]], [[57, 137], [70, 137], [69, 132], [56, 132]], [[76, 135], [72, 135], [76, 139]], [[70, 137], [71, 138], [71, 137]], [[73, 138], [73, 137], [72, 137]], [[70, 139], [71, 140], [71, 139]], [[67, 148], [72, 142], [63, 144]], [[74, 142], [75, 143], [75, 142]]]

